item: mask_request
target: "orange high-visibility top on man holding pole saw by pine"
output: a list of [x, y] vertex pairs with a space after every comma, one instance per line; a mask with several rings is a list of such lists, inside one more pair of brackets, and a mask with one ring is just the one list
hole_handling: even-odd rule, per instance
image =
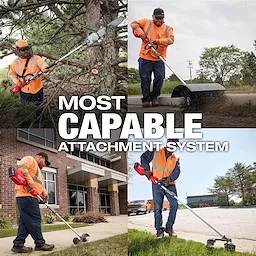
[[[17, 84], [22, 80], [19, 76], [22, 75], [26, 61], [27, 59], [18, 57], [12, 62], [10, 66], [10, 70], [11, 70], [10, 77], [15, 84]], [[28, 61], [27, 69], [24, 73], [24, 76], [26, 76], [27, 74], [34, 74], [35, 72], [39, 72], [47, 67], [48, 67], [47, 63], [40, 56], [33, 55], [32, 57], [30, 57]], [[29, 76], [27, 76], [26, 78], [28, 77]], [[40, 76], [34, 80], [31, 80], [28, 85], [25, 85], [24, 87], [22, 87], [21, 91], [25, 93], [35, 94], [42, 87], [43, 87], [42, 77]]]

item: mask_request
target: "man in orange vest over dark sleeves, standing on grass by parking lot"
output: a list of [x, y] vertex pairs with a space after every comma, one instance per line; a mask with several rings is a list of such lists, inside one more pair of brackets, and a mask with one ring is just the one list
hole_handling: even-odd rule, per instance
[[[178, 139], [168, 139], [167, 142], [178, 142]], [[167, 144], [168, 145], [168, 144]], [[159, 151], [146, 151], [141, 155], [141, 164], [145, 170], [145, 175], [149, 179], [150, 175], [153, 175], [161, 180], [163, 178], [167, 189], [172, 191], [177, 196], [176, 180], [180, 175], [180, 163], [179, 158], [175, 156], [173, 152], [166, 146]], [[152, 163], [152, 172], [150, 170], [150, 162]], [[154, 200], [154, 218], [155, 218], [155, 229], [157, 238], [163, 238], [164, 232], [168, 233], [169, 236], [177, 236], [173, 231], [173, 225], [176, 219], [176, 213], [178, 210], [177, 200], [165, 193], [165, 191], [155, 182], [152, 182], [152, 194]], [[169, 216], [166, 222], [166, 226], [162, 227], [162, 209], [164, 196], [169, 201]]]

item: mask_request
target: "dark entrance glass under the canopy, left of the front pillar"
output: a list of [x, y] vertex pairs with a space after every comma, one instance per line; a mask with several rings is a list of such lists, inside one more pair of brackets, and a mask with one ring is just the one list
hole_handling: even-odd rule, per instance
[[87, 192], [85, 187], [68, 185], [68, 208], [69, 213], [72, 215], [86, 212]]

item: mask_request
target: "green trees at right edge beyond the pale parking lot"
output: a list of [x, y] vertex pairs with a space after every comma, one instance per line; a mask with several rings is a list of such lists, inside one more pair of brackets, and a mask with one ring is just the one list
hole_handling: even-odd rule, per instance
[[216, 205], [233, 205], [234, 196], [241, 198], [241, 205], [256, 205], [256, 162], [249, 166], [235, 163], [224, 176], [217, 176], [208, 190], [216, 195]]

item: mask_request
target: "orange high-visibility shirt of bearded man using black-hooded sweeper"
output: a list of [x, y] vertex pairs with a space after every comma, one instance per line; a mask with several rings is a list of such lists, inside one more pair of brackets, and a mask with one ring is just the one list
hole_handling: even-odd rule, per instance
[[[153, 42], [154, 39], [160, 39], [157, 51], [163, 58], [166, 57], [167, 46], [174, 43], [172, 27], [165, 23], [158, 27], [154, 24], [153, 20], [147, 18], [133, 21], [131, 27], [136, 36], [141, 37], [142, 35], [145, 35], [150, 42]], [[145, 43], [143, 42], [141, 43], [139, 56], [146, 60], [159, 60], [151, 49], [145, 49]]]

